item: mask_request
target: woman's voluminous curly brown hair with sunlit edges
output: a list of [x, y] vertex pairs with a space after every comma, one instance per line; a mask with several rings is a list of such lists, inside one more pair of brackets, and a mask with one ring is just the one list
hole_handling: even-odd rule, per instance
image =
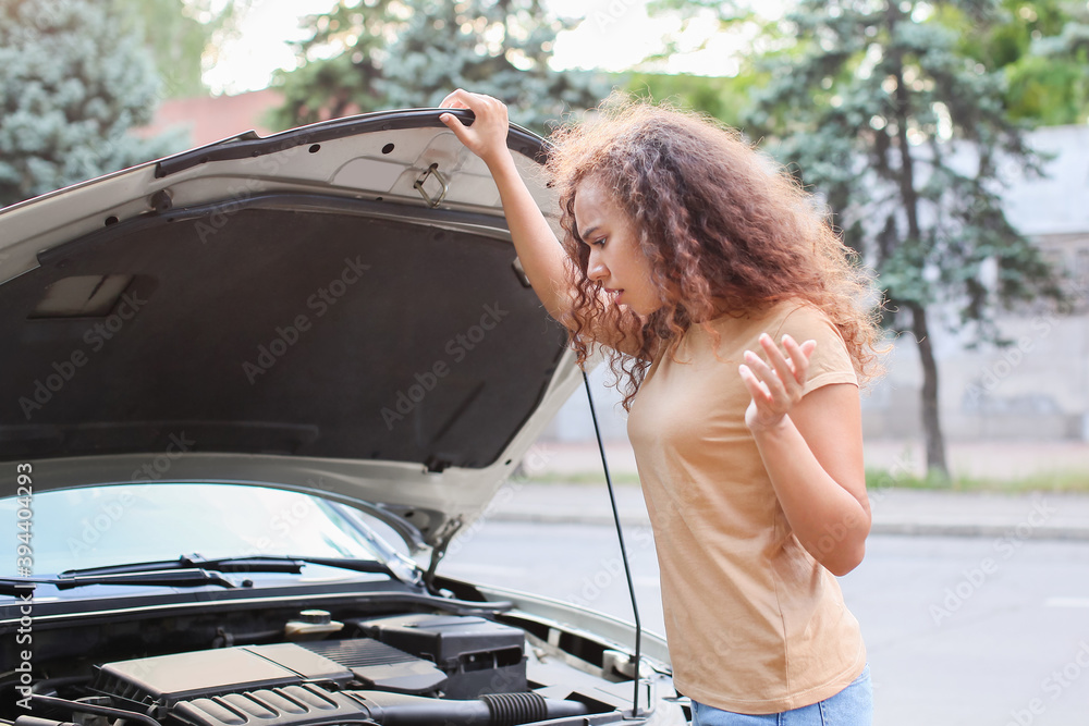
[[[573, 306], [562, 320], [582, 365], [614, 330], [634, 356], [609, 354], [624, 408], [660, 346], [694, 323], [744, 316], [785, 299], [806, 300], [839, 329], [861, 381], [880, 372], [877, 309], [868, 276], [795, 179], [708, 116], [614, 95], [580, 123], [550, 137], [546, 170], [559, 193]], [[575, 222], [579, 184], [612, 192], [634, 221], [661, 308], [640, 318], [602, 302], [587, 276], [589, 248]], [[715, 335], [717, 337], [717, 335]]]

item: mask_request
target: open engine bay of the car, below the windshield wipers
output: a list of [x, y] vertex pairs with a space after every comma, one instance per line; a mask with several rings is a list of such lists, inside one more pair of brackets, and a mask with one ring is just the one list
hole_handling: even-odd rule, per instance
[[0, 681], [0, 715], [14, 726], [517, 726], [631, 710], [615, 651], [514, 615], [284, 613], [39, 630], [36, 653], [50, 657], [36, 659], [28, 701], [10, 674]]

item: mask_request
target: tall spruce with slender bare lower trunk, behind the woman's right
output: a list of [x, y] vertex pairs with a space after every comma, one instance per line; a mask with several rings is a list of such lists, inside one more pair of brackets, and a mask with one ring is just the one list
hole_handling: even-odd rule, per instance
[[[736, 3], [707, 4], [729, 24], [757, 22]], [[999, 11], [993, 0], [799, 0], [763, 26], [751, 62], [768, 83], [744, 120], [877, 270], [888, 327], [914, 334], [927, 466], [945, 477], [934, 325], [1001, 343], [999, 308], [1064, 302], [1057, 273], [1002, 211], [1005, 164], [1039, 173], [1040, 159], [1008, 119], [1003, 73], [962, 47]]]

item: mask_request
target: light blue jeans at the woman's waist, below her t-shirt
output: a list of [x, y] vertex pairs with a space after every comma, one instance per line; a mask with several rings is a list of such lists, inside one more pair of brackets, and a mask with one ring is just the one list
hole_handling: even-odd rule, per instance
[[692, 726], [870, 726], [873, 687], [870, 666], [835, 696], [783, 713], [750, 716], [692, 702]]

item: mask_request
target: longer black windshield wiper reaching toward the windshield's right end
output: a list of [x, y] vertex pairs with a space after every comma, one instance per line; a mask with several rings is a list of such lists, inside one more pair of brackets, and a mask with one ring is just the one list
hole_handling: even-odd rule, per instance
[[292, 573], [298, 575], [304, 565], [322, 565], [339, 567], [355, 573], [376, 573], [393, 575], [386, 563], [378, 559], [352, 559], [343, 557], [309, 557], [295, 555], [249, 555], [241, 557], [217, 557], [205, 559], [200, 555], [182, 555], [178, 559], [161, 562], [132, 563], [129, 565], [110, 565], [107, 567], [87, 567], [85, 569], [69, 569], [60, 574], [59, 579], [78, 576], [127, 575], [133, 573], [150, 573], [162, 570], [211, 570], [216, 573]]

